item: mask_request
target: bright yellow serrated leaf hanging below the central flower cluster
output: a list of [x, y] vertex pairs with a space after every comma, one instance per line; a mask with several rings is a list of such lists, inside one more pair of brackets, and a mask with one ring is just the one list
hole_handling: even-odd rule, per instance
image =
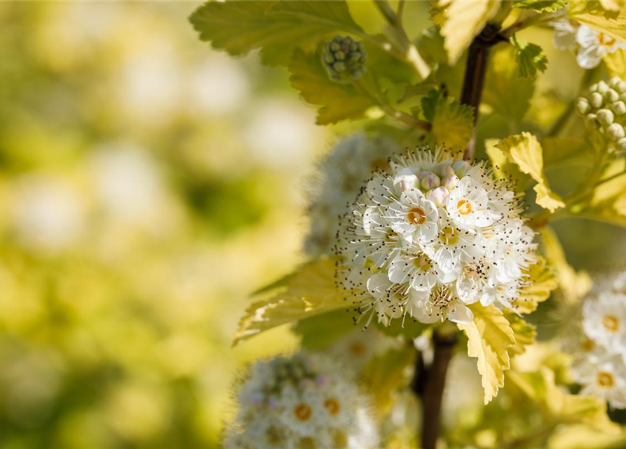
[[515, 344], [515, 335], [503, 312], [491, 305], [470, 306], [474, 320], [459, 324], [468, 335], [468, 356], [478, 358], [478, 372], [482, 375], [484, 403], [489, 403], [504, 386], [504, 372], [510, 368], [508, 349]]

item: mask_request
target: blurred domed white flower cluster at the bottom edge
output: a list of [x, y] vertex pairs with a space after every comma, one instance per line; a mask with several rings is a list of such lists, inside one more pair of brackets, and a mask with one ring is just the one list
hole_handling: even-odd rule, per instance
[[322, 356], [257, 361], [225, 449], [372, 449], [378, 433], [358, 387]]

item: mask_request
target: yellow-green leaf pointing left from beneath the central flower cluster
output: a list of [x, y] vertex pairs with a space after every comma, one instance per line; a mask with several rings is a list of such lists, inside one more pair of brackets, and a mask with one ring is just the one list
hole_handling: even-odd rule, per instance
[[[304, 264], [279, 283], [274, 295], [252, 303], [239, 321], [234, 344], [276, 326], [346, 307], [346, 292], [334, 283], [334, 260]], [[346, 320], [350, 317], [346, 316]]]

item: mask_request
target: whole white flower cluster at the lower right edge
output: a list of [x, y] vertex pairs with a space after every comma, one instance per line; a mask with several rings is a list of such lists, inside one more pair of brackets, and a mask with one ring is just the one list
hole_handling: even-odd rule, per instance
[[626, 408], [626, 274], [597, 283], [583, 302], [583, 338], [572, 364], [581, 394]]

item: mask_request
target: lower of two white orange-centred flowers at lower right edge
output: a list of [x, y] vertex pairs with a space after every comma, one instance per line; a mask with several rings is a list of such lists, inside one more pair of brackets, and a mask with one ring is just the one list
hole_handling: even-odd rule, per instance
[[626, 408], [626, 365], [619, 354], [606, 354], [594, 361], [578, 357], [572, 374], [583, 386], [580, 394], [604, 399], [614, 408]]

